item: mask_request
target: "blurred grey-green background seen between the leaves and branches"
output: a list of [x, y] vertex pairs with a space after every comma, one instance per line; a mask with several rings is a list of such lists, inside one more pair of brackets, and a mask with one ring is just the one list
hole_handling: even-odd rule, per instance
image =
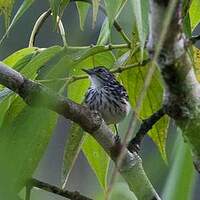
[[[16, 11], [22, 1], [16, 1], [14, 10]], [[35, 1], [33, 6], [19, 20], [0, 48], [0, 59], [7, 57], [9, 54], [18, 49], [28, 46], [28, 40], [33, 25], [39, 15], [48, 9], [48, 1]], [[123, 28], [131, 33], [130, 24], [127, 18], [132, 17], [129, 4], [125, 6], [125, 12], [120, 15], [119, 21]], [[94, 29], [92, 29], [92, 11], [87, 16], [87, 23], [84, 31], [79, 28], [79, 19], [76, 6], [70, 3], [63, 17], [64, 27], [67, 32], [67, 41], [70, 45], [90, 45], [95, 44], [103, 22], [104, 15], [99, 12], [98, 20]], [[3, 20], [0, 18], [0, 26], [3, 27]], [[5, 30], [0, 30], [2, 36]], [[198, 33], [198, 29], [195, 30]], [[113, 41], [120, 43], [118, 34], [113, 30]], [[47, 23], [37, 37], [36, 46], [49, 47], [55, 44], [62, 44], [60, 35], [53, 31], [52, 20], [48, 19]], [[54, 135], [48, 145], [46, 153], [41, 160], [34, 177], [41, 181], [60, 186], [60, 173], [63, 158], [63, 148], [67, 139], [69, 123], [62, 117], [59, 118]], [[143, 158], [144, 169], [155, 186], [158, 193], [166, 200], [198, 200], [200, 199], [200, 176], [194, 171], [190, 153], [187, 146], [183, 144], [179, 131], [174, 127], [173, 122], [170, 124], [167, 139], [167, 156], [166, 164], [158, 152], [151, 139], [145, 138], [142, 145], [141, 156]], [[67, 188], [77, 190], [94, 199], [103, 199], [103, 191], [98, 181], [89, 167], [86, 158], [80, 153], [77, 162], [72, 170]], [[118, 180], [113, 189], [112, 199], [133, 199], [131, 193], [127, 192], [128, 188], [122, 178]], [[171, 194], [171, 195], [170, 195]], [[34, 189], [32, 199], [37, 200], [61, 200], [59, 196], [50, 194], [41, 190]]]

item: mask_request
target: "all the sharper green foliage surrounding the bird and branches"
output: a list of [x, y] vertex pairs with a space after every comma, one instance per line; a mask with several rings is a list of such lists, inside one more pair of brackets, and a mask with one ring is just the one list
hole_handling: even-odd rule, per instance
[[[20, 18], [23, 19], [24, 13], [34, 3], [34, 0], [24, 0], [11, 19], [14, 3], [14, 0], [0, 0], [0, 14], [4, 15], [6, 27], [0, 45], [17, 21]], [[69, 0], [49, 0], [49, 7], [53, 13], [52, 17], [55, 27], [57, 26], [58, 16], [60, 20], [69, 3]], [[134, 107], [138, 104], [138, 96], [143, 88], [145, 77], [148, 75], [149, 64], [139, 67], [139, 64], [144, 59], [147, 59], [145, 41], [149, 26], [148, 1], [131, 0], [129, 2], [128, 0], [104, 0], [104, 4], [101, 4], [100, 0], [92, 0], [91, 4], [93, 28], [99, 12], [103, 11], [107, 15], [102, 23], [96, 46], [30, 47], [11, 54], [3, 62], [27, 78], [42, 82], [61, 94], [67, 93], [70, 99], [78, 103], [82, 102], [84, 93], [89, 86], [89, 81], [84, 77], [81, 68], [104, 65], [113, 70], [117, 67], [124, 69], [127, 66], [138, 63], [138, 67], [122, 70], [117, 75], [118, 80], [123, 83], [128, 91], [130, 103], [134, 110]], [[127, 20], [128, 26], [132, 26], [131, 32], [128, 34], [131, 35], [131, 44], [129, 43], [127, 34], [122, 28], [123, 24], [122, 27], [117, 27], [117, 31], [122, 39], [124, 39], [125, 44], [108, 45], [108, 41], [110, 43], [113, 41], [112, 33], [114, 27], [116, 28], [115, 20], [120, 18], [120, 14], [123, 13], [123, 8], [127, 4], [132, 6], [133, 17], [135, 18], [134, 25], [132, 25], [131, 19]], [[105, 5], [105, 8], [103, 5]], [[84, 30], [84, 24], [89, 12], [89, 4], [87, 1], [80, 1], [76, 2], [76, 6], [79, 14], [80, 27], [81, 30]], [[199, 0], [193, 0], [189, 15], [187, 16], [187, 23], [185, 23], [187, 30], [193, 30], [200, 21], [199, 6]], [[132, 32], [136, 34], [133, 36]], [[199, 77], [198, 49], [194, 49], [194, 55], [196, 72]], [[141, 109], [137, 113], [139, 119], [149, 117], [162, 106], [162, 84], [160, 74], [156, 70], [147, 88], [145, 98], [140, 102]], [[3, 159], [3, 165], [0, 167], [0, 175], [2, 175], [2, 180], [5, 181], [4, 183], [7, 186], [12, 181], [12, 187], [8, 187], [9, 192], [18, 192], [25, 186], [26, 181], [32, 177], [51, 138], [51, 133], [56, 125], [56, 119], [57, 115], [55, 113], [45, 109], [30, 108], [10, 90], [3, 86], [0, 87], [0, 156]], [[161, 156], [165, 161], [167, 161], [165, 144], [168, 123], [168, 117], [163, 118], [149, 133], [149, 136], [158, 146]], [[127, 124], [125, 125], [122, 122], [119, 124], [119, 127], [120, 130], [127, 129]], [[86, 136], [86, 133], [75, 124], [72, 124], [68, 140], [66, 141], [62, 181], [67, 181], [81, 149], [89, 165], [95, 172], [100, 185], [106, 190], [110, 160], [101, 146], [93, 138]], [[175, 182], [172, 176], [176, 176], [181, 182], [180, 174], [177, 173], [178, 170], [176, 168], [179, 168], [185, 162], [184, 156], [187, 155], [187, 150], [182, 149], [182, 151], [184, 151], [184, 154], [179, 155], [180, 150], [178, 150], [177, 155], [180, 156], [180, 161], [174, 161], [168, 182]], [[188, 166], [188, 171], [191, 170], [190, 167]], [[164, 194], [171, 196], [172, 194], [169, 194], [170, 190], [171, 188], [169, 189], [166, 186]], [[170, 199], [172, 198], [170, 197]]]

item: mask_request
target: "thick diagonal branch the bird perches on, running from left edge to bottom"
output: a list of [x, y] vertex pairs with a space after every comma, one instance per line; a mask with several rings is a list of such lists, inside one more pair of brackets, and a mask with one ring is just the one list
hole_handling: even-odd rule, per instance
[[[26, 79], [3, 63], [0, 63], [0, 84], [19, 94], [28, 105], [46, 107], [78, 123], [116, 162], [121, 144], [116, 144], [114, 134], [97, 112], [90, 111], [87, 107], [64, 98], [39, 83]], [[160, 199], [148, 180], [142, 167], [142, 160], [137, 153], [125, 150], [119, 172], [139, 200]]]

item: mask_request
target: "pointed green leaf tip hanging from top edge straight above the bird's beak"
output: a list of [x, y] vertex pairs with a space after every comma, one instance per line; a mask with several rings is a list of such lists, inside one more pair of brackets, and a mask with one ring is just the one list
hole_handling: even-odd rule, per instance
[[78, 9], [78, 14], [79, 14], [80, 28], [83, 31], [83, 27], [85, 24], [85, 20], [86, 20], [90, 5], [86, 2], [76, 2], [76, 6]]

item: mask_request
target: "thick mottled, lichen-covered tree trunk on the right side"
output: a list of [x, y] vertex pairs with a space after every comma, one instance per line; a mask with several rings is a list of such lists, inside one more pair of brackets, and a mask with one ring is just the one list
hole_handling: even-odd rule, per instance
[[[151, 58], [154, 57], [163, 19], [172, 1], [149, 0], [150, 34], [147, 49]], [[176, 0], [173, 17], [156, 61], [165, 83], [166, 112], [181, 128], [185, 141], [191, 146], [195, 166], [200, 171], [200, 85], [187, 54], [182, 3], [182, 0]]]

